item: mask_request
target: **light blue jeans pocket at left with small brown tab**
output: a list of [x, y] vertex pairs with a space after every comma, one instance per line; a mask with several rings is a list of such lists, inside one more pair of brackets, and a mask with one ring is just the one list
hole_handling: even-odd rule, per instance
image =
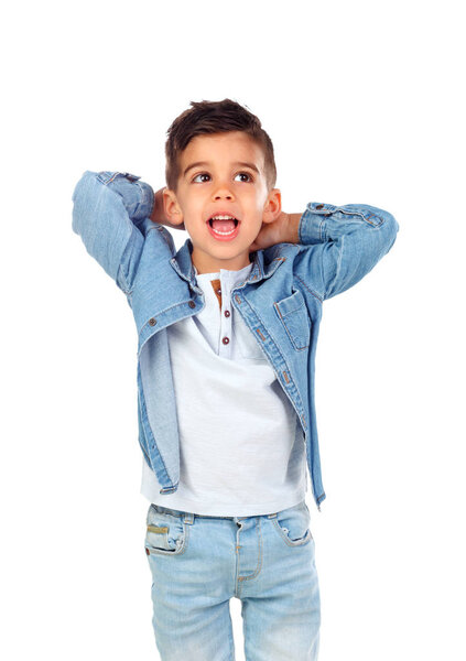
[[183, 516], [158, 510], [151, 503], [147, 517], [145, 553], [151, 555], [180, 555], [187, 548], [187, 525]]

